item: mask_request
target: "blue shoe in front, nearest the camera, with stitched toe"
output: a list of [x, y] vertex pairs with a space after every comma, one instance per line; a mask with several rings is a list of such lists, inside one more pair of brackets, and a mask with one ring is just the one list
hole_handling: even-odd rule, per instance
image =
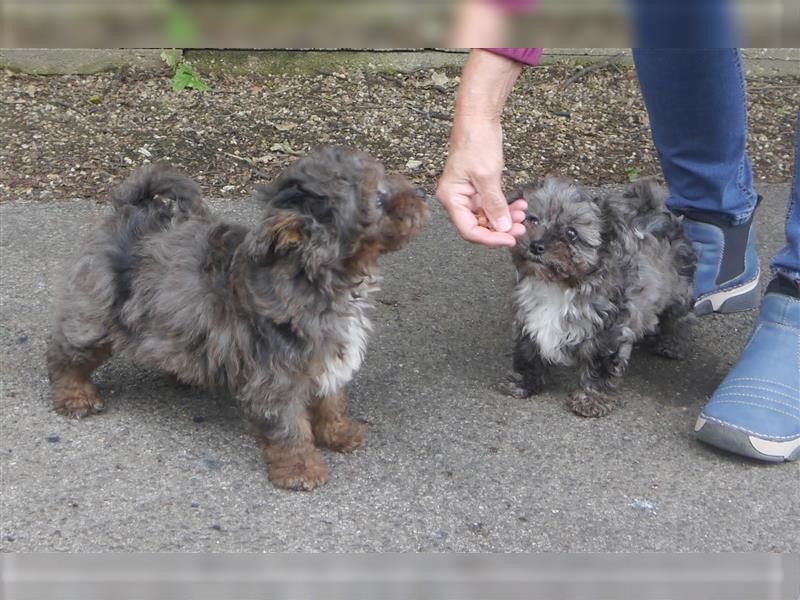
[[800, 282], [772, 280], [739, 362], [694, 429], [698, 439], [751, 458], [800, 458]]

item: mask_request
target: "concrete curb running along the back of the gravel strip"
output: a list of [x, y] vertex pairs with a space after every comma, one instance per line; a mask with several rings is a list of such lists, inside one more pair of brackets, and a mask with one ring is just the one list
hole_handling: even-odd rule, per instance
[[[590, 64], [622, 54], [630, 64], [627, 48], [548, 48], [543, 64]], [[745, 69], [755, 75], [797, 75], [800, 49], [748, 48], [743, 51]], [[368, 69], [411, 72], [419, 69], [460, 67], [463, 49], [184, 49], [184, 57], [201, 72], [230, 74], [318, 73]], [[163, 68], [160, 49], [0, 49], [0, 68], [34, 75], [89, 75], [123, 67], [146, 70]]]

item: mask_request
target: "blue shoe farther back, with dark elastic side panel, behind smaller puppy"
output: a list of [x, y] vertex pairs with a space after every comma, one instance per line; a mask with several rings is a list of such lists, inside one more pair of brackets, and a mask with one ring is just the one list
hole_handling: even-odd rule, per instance
[[754, 214], [755, 210], [745, 223], [731, 225], [725, 215], [683, 213], [683, 230], [697, 255], [695, 314], [732, 313], [758, 306]]

